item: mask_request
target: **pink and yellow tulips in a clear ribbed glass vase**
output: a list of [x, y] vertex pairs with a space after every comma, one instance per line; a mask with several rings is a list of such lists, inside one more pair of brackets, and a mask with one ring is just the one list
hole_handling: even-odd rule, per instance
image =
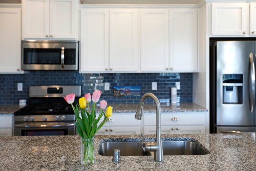
[[[76, 130], [81, 136], [81, 163], [82, 164], [92, 164], [94, 162], [94, 135], [97, 131], [108, 121], [108, 118], [112, 115], [112, 107], [109, 106], [104, 113], [107, 102], [105, 100], [100, 101], [100, 113], [98, 118], [96, 118], [95, 104], [99, 101], [101, 91], [95, 90], [92, 95], [93, 106], [90, 113], [89, 103], [91, 102], [91, 94], [84, 94], [84, 97], [79, 99], [79, 103], [76, 106], [73, 105], [75, 100], [75, 94], [69, 94], [65, 100], [72, 105], [76, 117]], [[86, 106], [88, 105], [88, 110]], [[79, 116], [79, 110], [81, 111], [81, 116]], [[104, 116], [103, 121], [97, 126], [99, 120]]]

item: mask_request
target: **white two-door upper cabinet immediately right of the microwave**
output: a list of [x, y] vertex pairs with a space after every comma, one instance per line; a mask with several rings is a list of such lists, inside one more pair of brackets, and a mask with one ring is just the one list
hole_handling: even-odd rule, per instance
[[81, 9], [80, 21], [80, 72], [139, 70], [138, 9]]

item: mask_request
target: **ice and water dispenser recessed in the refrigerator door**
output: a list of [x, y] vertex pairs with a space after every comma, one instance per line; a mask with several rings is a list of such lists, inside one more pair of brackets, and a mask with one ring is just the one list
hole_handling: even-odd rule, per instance
[[223, 74], [223, 104], [243, 103], [243, 74]]

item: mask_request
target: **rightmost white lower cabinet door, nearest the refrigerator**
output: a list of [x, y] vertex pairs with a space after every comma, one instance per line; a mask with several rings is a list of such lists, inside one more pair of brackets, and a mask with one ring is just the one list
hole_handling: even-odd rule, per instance
[[175, 134], [205, 134], [205, 126], [175, 126]]

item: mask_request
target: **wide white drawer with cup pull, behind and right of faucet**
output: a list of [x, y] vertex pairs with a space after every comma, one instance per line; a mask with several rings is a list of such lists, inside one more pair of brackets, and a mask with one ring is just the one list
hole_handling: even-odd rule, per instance
[[[177, 118], [178, 120], [172, 120]], [[185, 113], [185, 114], [161, 114], [161, 125], [204, 125], [204, 113]], [[144, 115], [144, 125], [156, 125], [156, 114]]]

